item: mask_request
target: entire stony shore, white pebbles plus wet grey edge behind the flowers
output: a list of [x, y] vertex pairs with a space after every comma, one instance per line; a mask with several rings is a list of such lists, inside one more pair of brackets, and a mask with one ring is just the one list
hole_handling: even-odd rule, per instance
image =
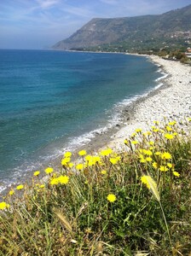
[[[85, 149], [88, 154], [96, 154], [101, 148], [123, 150], [124, 139], [129, 137], [136, 128], [142, 128], [142, 130], [147, 131], [148, 125], [151, 125], [154, 119], [162, 120], [164, 117], [175, 117], [176, 119], [179, 117], [179, 119], [181, 119], [185, 115], [191, 115], [190, 67], [180, 62], [164, 60], [155, 55], [138, 56], [147, 57], [148, 61], [152, 61], [161, 68], [161, 75], [163, 73], [167, 75], [167, 77], [162, 76], [159, 79], [163, 84], [159, 87], [156, 86], [145, 95], [138, 97], [134, 102], [130, 102], [129, 105], [124, 105], [122, 113], [120, 114], [119, 123], [108, 128], [107, 131], [97, 132], [95, 137], [90, 139], [89, 143], [84, 143], [84, 145], [72, 151], [74, 161], [78, 160], [78, 151], [81, 149]], [[188, 89], [187, 92], [185, 92], [185, 87]], [[185, 103], [186, 101], [187, 104]], [[167, 104], [169, 108], [166, 108], [165, 102], [171, 102]], [[175, 105], [177, 106], [176, 108], [174, 108]], [[185, 108], [185, 106], [187, 108]], [[61, 156], [57, 157], [55, 160], [50, 160], [49, 166], [60, 169]], [[14, 184], [12, 183], [10, 185]], [[7, 189], [9, 189], [9, 186]], [[1, 193], [6, 192], [7, 189], [4, 189]]]

